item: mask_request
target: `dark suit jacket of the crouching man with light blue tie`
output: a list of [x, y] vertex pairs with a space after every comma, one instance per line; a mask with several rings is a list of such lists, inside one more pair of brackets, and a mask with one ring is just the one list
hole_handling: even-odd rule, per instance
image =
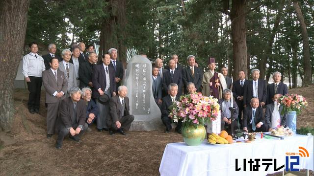
[[[242, 119], [242, 127], [248, 127], [248, 126], [252, 126], [250, 124], [251, 120], [252, 120], [252, 116], [253, 116], [253, 110], [251, 106], [247, 106], [244, 110], [243, 110], [243, 119]], [[256, 108], [255, 111], [255, 117], [254, 117], [254, 122], [255, 125], [262, 122], [263, 124], [265, 124], [265, 118], [263, 115], [263, 109], [261, 108], [261, 106], [259, 106], [258, 108]]]

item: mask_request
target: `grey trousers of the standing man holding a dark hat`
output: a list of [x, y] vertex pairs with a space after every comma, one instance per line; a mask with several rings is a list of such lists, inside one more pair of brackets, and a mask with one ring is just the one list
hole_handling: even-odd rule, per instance
[[[105, 94], [111, 98], [111, 93], [110, 89], [108, 89]], [[97, 129], [108, 129], [107, 126], [107, 120], [110, 116], [110, 109], [109, 109], [109, 101], [104, 103], [101, 103], [98, 99], [96, 102], [98, 109], [99, 109], [99, 117], [97, 117], [96, 122], [97, 122]]]

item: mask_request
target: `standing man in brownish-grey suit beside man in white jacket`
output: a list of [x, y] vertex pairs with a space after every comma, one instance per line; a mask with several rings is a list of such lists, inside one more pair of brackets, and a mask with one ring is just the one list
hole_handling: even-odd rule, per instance
[[50, 60], [51, 68], [42, 72], [43, 85], [46, 89], [47, 103], [47, 138], [51, 138], [55, 129], [59, 106], [68, 91], [67, 78], [59, 67], [58, 58]]

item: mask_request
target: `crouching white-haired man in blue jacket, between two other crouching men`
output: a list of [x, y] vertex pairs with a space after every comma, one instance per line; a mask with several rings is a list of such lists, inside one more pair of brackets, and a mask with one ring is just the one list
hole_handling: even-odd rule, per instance
[[[82, 88], [82, 98], [86, 103], [86, 123], [91, 125], [99, 116], [99, 109], [94, 100], [91, 99], [92, 90], [90, 88]], [[86, 131], [91, 131], [89, 128]]]

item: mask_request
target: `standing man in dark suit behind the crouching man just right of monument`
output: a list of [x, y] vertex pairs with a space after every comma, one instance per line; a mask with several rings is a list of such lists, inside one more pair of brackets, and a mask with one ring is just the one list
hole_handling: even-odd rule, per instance
[[179, 70], [176, 69], [176, 63], [174, 60], [169, 61], [169, 70], [163, 72], [163, 79], [162, 79], [162, 87], [165, 93], [168, 92], [168, 86], [171, 83], [176, 83], [178, 85], [178, 97], [182, 95], [182, 74]]

